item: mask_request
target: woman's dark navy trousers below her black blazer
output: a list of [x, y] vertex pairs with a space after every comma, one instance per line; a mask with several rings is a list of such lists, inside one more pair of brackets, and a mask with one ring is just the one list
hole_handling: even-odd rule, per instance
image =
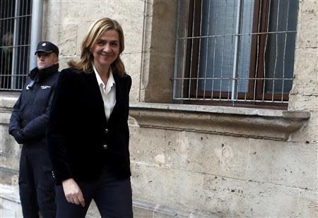
[[131, 218], [132, 197], [130, 178], [114, 178], [105, 167], [97, 181], [76, 181], [81, 188], [85, 207], [67, 202], [63, 186], [55, 186], [57, 193], [57, 218], [84, 218], [92, 200], [102, 218]]

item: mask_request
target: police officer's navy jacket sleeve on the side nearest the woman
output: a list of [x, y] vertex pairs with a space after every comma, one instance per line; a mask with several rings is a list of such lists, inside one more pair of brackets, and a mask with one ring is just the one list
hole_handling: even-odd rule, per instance
[[56, 88], [56, 85], [52, 86], [52, 91], [49, 95], [49, 100], [47, 102], [45, 113], [41, 114], [40, 116], [37, 116], [35, 119], [30, 121], [23, 128], [23, 136], [27, 140], [28, 139], [33, 140], [40, 135], [45, 135], [46, 128], [47, 128], [47, 121], [49, 120], [49, 111], [51, 111], [55, 88]]

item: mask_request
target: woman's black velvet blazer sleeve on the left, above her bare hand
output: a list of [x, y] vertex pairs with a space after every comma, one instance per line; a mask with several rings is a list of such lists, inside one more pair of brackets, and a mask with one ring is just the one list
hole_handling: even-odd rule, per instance
[[53, 98], [52, 109], [47, 123], [47, 147], [55, 182], [61, 184], [66, 178], [73, 177], [66, 156], [66, 145], [63, 131], [64, 112], [69, 106], [69, 81], [65, 70], [61, 71], [57, 81], [57, 90]]

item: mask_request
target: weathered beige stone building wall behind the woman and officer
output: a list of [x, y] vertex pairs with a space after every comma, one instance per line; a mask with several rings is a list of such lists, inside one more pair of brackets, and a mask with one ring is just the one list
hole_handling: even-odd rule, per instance
[[[317, 0], [299, 1], [286, 111], [173, 102], [176, 0], [49, 0], [44, 9], [42, 38], [59, 46], [61, 68], [93, 20], [122, 24], [135, 217], [318, 217]], [[16, 97], [0, 96], [1, 213], [20, 217], [20, 147], [7, 134]], [[94, 205], [88, 217], [98, 217]]]

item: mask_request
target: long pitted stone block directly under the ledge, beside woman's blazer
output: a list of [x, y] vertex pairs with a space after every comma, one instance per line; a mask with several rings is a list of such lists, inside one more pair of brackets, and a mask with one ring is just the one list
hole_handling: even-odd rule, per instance
[[134, 162], [245, 178], [247, 138], [134, 128], [130, 145]]

